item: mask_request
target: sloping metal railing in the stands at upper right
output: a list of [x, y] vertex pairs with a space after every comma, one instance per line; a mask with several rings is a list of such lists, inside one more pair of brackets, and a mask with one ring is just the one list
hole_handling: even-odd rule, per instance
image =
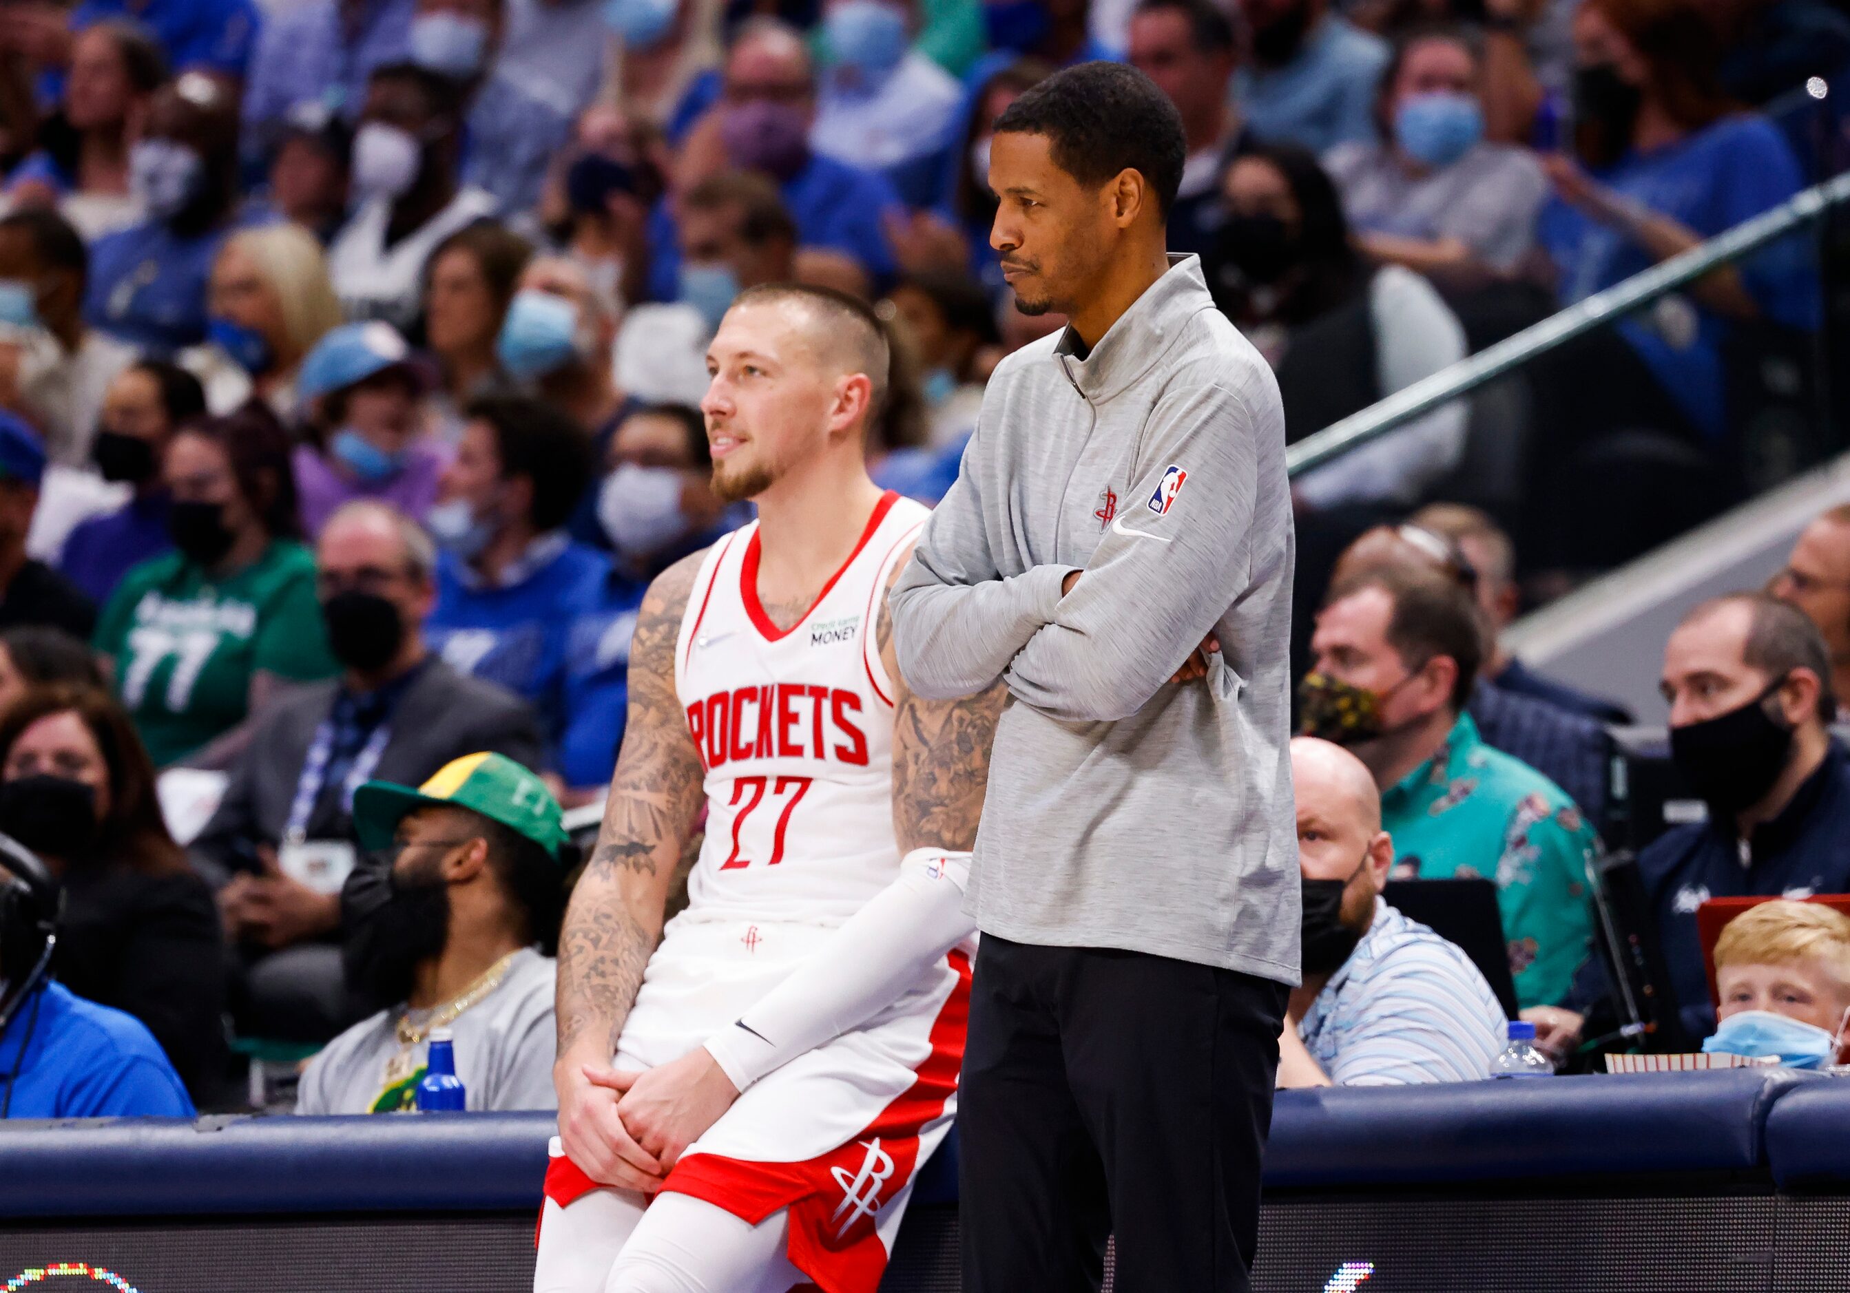
[[1641, 305], [1674, 292], [1684, 283], [1698, 279], [1717, 266], [1737, 261], [1817, 220], [1844, 202], [1850, 202], [1850, 172], [1806, 189], [1778, 207], [1717, 233], [1700, 246], [1693, 246], [1680, 255], [1672, 255], [1669, 261], [1634, 274], [1622, 283], [1595, 292], [1558, 314], [1550, 314], [1539, 324], [1506, 337], [1495, 346], [1486, 346], [1476, 355], [1441, 368], [1430, 377], [1423, 377], [1412, 387], [1404, 387], [1386, 400], [1371, 403], [1367, 409], [1352, 413], [1315, 435], [1304, 437], [1286, 449], [1286, 470], [1295, 477], [1376, 440], [1400, 424], [1469, 394], [1511, 368], [1519, 368], [1541, 351], [1630, 314]]

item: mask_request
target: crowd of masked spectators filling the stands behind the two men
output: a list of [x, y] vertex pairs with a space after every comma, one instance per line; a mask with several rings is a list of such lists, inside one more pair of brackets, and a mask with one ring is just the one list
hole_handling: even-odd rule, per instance
[[[710, 486], [697, 409], [740, 290], [877, 305], [870, 466], [936, 501], [988, 374], [1064, 322], [1014, 311], [997, 272], [992, 122], [1095, 57], [1177, 105], [1171, 250], [1273, 364], [1297, 440], [1465, 357], [1511, 300], [1571, 305], [1793, 196], [1824, 159], [1783, 96], [1850, 63], [1850, 20], [1822, 0], [7, 6], [0, 829], [67, 890], [59, 979], [139, 1019], [200, 1102], [222, 1016], [340, 1034], [314, 1110], [401, 1102], [403, 1040], [453, 997], [546, 1032], [529, 949], [557, 923], [557, 821], [446, 786], [368, 825], [363, 788], [488, 753], [472, 777], [544, 777], [555, 816], [601, 794], [642, 590], [749, 516]], [[1778, 242], [1563, 348], [1534, 383], [1532, 501], [1639, 429], [1720, 461], [1732, 339], [1819, 314], [1815, 266]], [[1626, 714], [1498, 644], [1510, 518], [1443, 501], [1473, 418], [1443, 405], [1293, 485], [1302, 731], [1325, 738], [1293, 751], [1301, 834], [1321, 823], [1306, 947], [1326, 899], [1295, 1082], [1495, 1054], [1500, 1006], [1386, 905], [1389, 877], [1497, 886], [1517, 1003], [1558, 1054], [1600, 991]], [[1669, 644], [1672, 749], [1711, 816], [1641, 869], [1693, 1036], [1702, 899], [1850, 888], [1826, 844], [1850, 812], [1828, 733], [1846, 590], [1833, 512], [1772, 588], [1804, 614], [1722, 599]], [[224, 775], [185, 847], [170, 770]], [[394, 919], [424, 942], [387, 954]], [[1369, 1034], [1399, 1017], [1382, 1003], [1471, 1028], [1426, 1028], [1436, 1058]], [[398, 1088], [374, 1082], [387, 1051]], [[485, 1091], [549, 1099], [503, 1058]]]

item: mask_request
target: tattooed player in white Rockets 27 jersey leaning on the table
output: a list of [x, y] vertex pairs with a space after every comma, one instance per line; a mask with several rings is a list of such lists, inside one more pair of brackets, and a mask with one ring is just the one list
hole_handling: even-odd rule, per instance
[[760, 287], [709, 370], [714, 486], [758, 520], [636, 623], [559, 949], [538, 1293], [873, 1293], [955, 1114], [999, 694], [925, 703], [894, 666], [886, 588], [927, 512], [862, 457], [886, 340], [851, 298]]

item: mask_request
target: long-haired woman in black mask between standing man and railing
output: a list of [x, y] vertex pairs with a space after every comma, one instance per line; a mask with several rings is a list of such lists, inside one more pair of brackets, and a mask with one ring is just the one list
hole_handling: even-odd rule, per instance
[[[1308, 152], [1243, 152], [1221, 192], [1227, 222], [1204, 265], [1208, 287], [1278, 374], [1286, 438], [1465, 357], [1465, 329], [1426, 279], [1354, 252], [1336, 187]], [[1465, 416], [1465, 401], [1449, 403], [1308, 472], [1291, 490], [1315, 509], [1413, 503], [1458, 462]]]

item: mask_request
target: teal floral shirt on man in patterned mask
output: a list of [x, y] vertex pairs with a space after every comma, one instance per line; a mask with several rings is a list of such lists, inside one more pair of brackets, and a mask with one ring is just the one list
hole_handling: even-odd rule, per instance
[[1395, 879], [1497, 882], [1523, 1008], [1567, 995], [1593, 934], [1600, 840], [1567, 792], [1491, 749], [1469, 714], [1439, 751], [1382, 795]]

